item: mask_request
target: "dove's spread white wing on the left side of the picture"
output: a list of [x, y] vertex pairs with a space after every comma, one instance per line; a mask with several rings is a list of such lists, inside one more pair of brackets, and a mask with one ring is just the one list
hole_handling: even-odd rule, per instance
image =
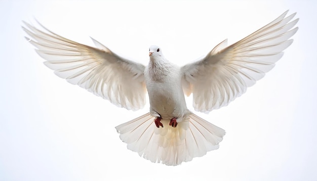
[[118, 107], [138, 110], [145, 105], [145, 66], [117, 56], [93, 39], [93, 48], [46, 32], [24, 22], [26, 39], [47, 60], [46, 66], [72, 84], [80, 85]]

